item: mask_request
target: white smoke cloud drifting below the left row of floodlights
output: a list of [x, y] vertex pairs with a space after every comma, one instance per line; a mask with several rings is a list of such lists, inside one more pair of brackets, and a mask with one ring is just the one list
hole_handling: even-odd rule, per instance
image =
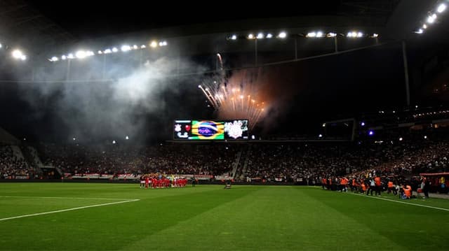
[[[106, 75], [121, 78], [105, 82], [95, 81], [101, 59], [92, 60], [97, 60], [90, 62], [96, 67], [80, 73], [71, 71], [72, 81], [67, 83], [43, 83], [65, 79], [65, 69], [55, 66], [52, 71], [36, 74], [36, 82], [40, 83], [22, 84], [23, 98], [34, 108], [34, 115], [42, 117], [48, 109], [53, 110], [55, 121], [48, 123], [62, 121], [63, 124], [56, 127], [60, 133], [67, 134], [67, 138], [76, 136], [79, 141], [121, 136], [143, 138], [142, 134], [149, 133], [146, 125], [150, 115], [167, 118], [170, 108], [164, 94], [178, 92], [177, 86], [182, 80], [180, 76], [173, 76], [180, 65], [178, 59], [148, 60], [128, 74], [129, 68], [123, 63], [109, 62]], [[191, 62], [182, 62], [182, 65], [191, 72], [203, 71], [203, 67]], [[79, 79], [86, 81], [77, 81]], [[52, 107], [48, 107], [49, 103]]]

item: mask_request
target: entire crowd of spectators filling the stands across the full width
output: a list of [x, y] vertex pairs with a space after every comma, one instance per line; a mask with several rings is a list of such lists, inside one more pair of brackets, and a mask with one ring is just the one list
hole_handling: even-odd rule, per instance
[[[39, 144], [37, 149], [45, 166], [68, 175], [228, 175], [251, 182], [318, 185], [323, 178], [448, 171], [449, 141], [165, 143], [141, 147]], [[27, 176], [32, 171], [10, 146], [0, 147], [0, 157], [1, 178]]]

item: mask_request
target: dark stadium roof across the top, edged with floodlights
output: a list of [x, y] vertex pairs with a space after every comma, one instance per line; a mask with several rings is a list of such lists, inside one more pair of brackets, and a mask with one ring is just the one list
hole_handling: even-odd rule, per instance
[[[27, 48], [41, 58], [65, 53], [80, 45], [100, 50], [153, 38], [180, 38], [203, 52], [213, 52], [217, 43], [234, 33], [248, 31], [304, 34], [314, 29], [346, 34], [359, 29], [380, 34], [382, 41], [417, 37], [413, 30], [436, 3], [442, 0], [323, 0], [242, 6], [238, 2], [120, 4], [110, 1], [1, 0], [2, 36], [14, 46]], [[438, 20], [441, 22], [441, 20]], [[441, 26], [441, 25], [440, 25]], [[434, 29], [435, 30], [435, 29]], [[441, 29], [433, 32], [441, 36]], [[5, 40], [5, 38], [0, 38]], [[0, 41], [4, 42], [4, 41]], [[109, 43], [109, 44], [108, 44]], [[246, 49], [242, 49], [246, 50]], [[251, 50], [248, 48], [248, 50]], [[290, 50], [290, 49], [289, 49]]]

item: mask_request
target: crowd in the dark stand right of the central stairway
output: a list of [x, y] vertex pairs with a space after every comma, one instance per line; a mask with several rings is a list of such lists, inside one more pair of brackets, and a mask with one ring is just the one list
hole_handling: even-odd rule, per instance
[[410, 141], [400, 143], [265, 144], [250, 148], [244, 176], [247, 180], [306, 180], [349, 173], [407, 175], [448, 171], [449, 143]]

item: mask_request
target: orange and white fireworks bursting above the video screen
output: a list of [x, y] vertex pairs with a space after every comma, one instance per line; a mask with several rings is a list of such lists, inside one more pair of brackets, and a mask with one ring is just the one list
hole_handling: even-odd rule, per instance
[[[222, 59], [217, 54], [222, 67]], [[220, 119], [248, 119], [250, 129], [265, 115], [266, 106], [262, 102], [262, 91], [266, 83], [262, 83], [259, 71], [244, 70], [233, 73], [227, 78], [225, 73], [203, 81], [199, 89], [217, 111]]]

